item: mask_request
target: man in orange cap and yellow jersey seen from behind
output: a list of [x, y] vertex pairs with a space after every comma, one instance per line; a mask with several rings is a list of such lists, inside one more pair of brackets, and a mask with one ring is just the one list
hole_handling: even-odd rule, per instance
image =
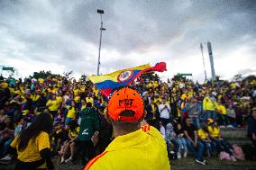
[[165, 140], [142, 121], [145, 112], [140, 94], [128, 86], [118, 88], [105, 116], [112, 123], [115, 139], [84, 170], [170, 169]]

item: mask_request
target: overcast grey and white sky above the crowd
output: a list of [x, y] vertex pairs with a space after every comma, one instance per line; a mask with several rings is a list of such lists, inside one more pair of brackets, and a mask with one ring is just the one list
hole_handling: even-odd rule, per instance
[[204, 79], [199, 43], [212, 42], [215, 74], [256, 72], [256, 3], [236, 0], [0, 0], [0, 65], [19, 76], [51, 70], [96, 74], [100, 15], [104, 27], [100, 73], [167, 63], [160, 76]]

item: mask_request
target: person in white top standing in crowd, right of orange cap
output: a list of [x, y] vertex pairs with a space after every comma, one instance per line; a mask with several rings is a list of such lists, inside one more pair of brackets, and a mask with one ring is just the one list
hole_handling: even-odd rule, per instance
[[160, 112], [160, 121], [162, 122], [163, 126], [166, 127], [170, 119], [170, 107], [169, 107], [169, 104], [166, 103], [165, 98], [162, 99], [162, 102], [159, 105], [159, 112]]

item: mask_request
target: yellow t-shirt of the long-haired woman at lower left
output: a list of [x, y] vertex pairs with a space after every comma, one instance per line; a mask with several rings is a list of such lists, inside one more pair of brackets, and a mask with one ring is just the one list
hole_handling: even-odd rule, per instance
[[[49, 134], [44, 131], [41, 131], [34, 142], [32, 142], [31, 139], [28, 143], [28, 146], [23, 151], [19, 151], [19, 143], [17, 139], [17, 137], [14, 139], [14, 141], [11, 143], [11, 147], [17, 149], [18, 159], [23, 162], [33, 162], [40, 160], [40, 151], [44, 148], [50, 148]], [[45, 167], [45, 164], [41, 166], [41, 168]]]

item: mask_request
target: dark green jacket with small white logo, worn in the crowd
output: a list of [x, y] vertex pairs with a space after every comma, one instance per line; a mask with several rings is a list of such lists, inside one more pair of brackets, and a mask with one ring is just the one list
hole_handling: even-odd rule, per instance
[[81, 141], [90, 140], [93, 134], [100, 129], [96, 111], [87, 107], [80, 112], [80, 119], [78, 139]]

